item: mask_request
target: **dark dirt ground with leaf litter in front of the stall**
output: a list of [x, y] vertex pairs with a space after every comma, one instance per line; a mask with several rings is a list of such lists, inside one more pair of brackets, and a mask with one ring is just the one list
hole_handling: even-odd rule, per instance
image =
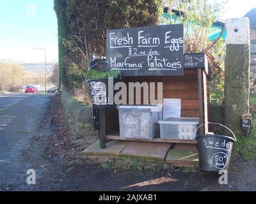
[[[219, 175], [200, 173], [195, 169], [174, 168], [168, 164], [154, 164], [132, 159], [83, 159], [79, 152], [97, 138], [72, 138], [63, 117], [60, 98], [54, 99], [53, 121], [61, 127], [49, 143], [56, 143], [51, 153], [58, 157], [65, 178], [58, 190], [65, 191], [254, 191], [255, 162], [246, 163], [239, 156], [233, 158], [228, 185], [218, 184]], [[58, 108], [56, 108], [58, 107]], [[60, 120], [61, 119], [61, 120]], [[52, 140], [54, 142], [52, 142]], [[78, 140], [77, 145], [70, 146]], [[63, 144], [63, 145], [60, 145]], [[49, 145], [51, 147], [52, 145]], [[56, 147], [56, 145], [54, 145]], [[72, 156], [70, 156], [72, 155]], [[52, 156], [54, 158], [55, 156]], [[57, 156], [56, 156], [57, 157]]]

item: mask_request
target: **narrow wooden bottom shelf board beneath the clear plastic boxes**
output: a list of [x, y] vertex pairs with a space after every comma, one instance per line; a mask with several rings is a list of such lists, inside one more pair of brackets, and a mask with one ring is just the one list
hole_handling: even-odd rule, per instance
[[173, 139], [161, 139], [161, 138], [154, 138], [153, 140], [145, 140], [145, 139], [121, 138], [119, 135], [107, 135], [107, 139], [108, 140], [124, 140], [124, 141], [140, 141], [140, 142], [197, 144], [196, 140], [173, 140]]

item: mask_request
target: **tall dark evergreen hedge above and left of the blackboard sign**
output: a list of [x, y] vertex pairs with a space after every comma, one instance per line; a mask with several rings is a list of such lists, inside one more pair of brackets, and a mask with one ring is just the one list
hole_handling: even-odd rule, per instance
[[88, 55], [105, 55], [108, 29], [156, 24], [158, 4], [159, 0], [54, 0], [62, 82], [69, 88], [81, 84], [79, 74], [88, 69]]

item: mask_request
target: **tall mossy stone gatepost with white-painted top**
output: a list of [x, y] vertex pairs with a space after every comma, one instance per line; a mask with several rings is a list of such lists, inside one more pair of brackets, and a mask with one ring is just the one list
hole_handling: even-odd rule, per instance
[[228, 19], [226, 29], [225, 125], [239, 135], [241, 115], [249, 112], [250, 20]]

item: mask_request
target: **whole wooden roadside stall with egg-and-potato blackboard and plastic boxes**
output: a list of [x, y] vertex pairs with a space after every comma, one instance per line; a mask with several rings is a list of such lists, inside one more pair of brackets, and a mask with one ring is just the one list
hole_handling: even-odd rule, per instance
[[118, 73], [108, 85], [90, 82], [100, 148], [112, 140], [196, 146], [194, 132], [208, 122], [211, 71], [205, 54], [184, 54], [184, 25], [108, 31], [103, 65]]

